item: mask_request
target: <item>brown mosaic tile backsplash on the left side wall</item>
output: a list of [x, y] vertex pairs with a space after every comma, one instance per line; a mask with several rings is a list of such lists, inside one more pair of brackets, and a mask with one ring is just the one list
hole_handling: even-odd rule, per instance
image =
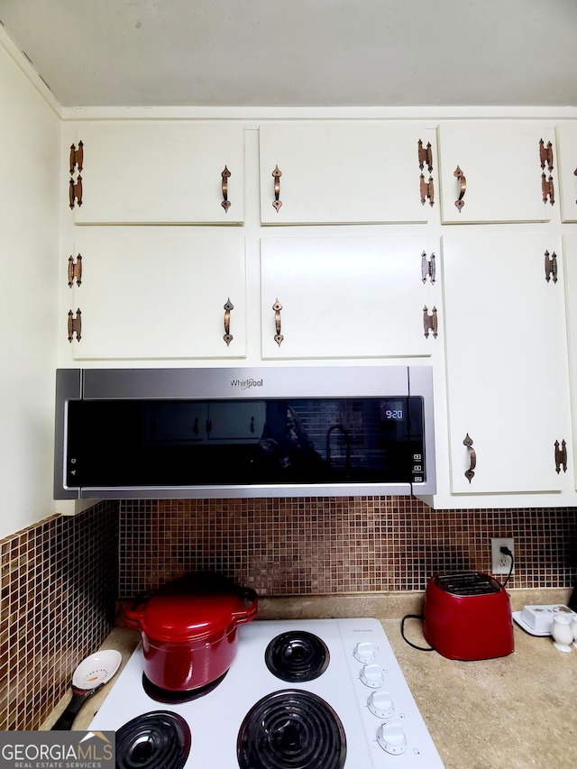
[[0, 540], [0, 569], [0, 730], [33, 730], [114, 627], [118, 503]]

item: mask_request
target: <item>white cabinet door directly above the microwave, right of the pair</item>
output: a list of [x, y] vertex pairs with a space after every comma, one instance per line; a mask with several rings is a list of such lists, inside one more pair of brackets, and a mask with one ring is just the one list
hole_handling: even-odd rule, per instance
[[262, 239], [262, 357], [433, 354], [437, 256], [417, 236]]

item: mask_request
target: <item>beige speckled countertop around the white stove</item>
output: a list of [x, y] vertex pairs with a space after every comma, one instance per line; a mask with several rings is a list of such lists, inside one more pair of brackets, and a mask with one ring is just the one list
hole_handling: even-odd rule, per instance
[[[570, 590], [512, 590], [512, 609], [526, 604], [566, 603]], [[400, 618], [422, 609], [422, 593], [389, 595], [261, 598], [259, 618], [376, 617], [397, 655], [408, 685], [446, 769], [569, 769], [577, 765], [577, 649], [558, 652], [549, 636], [530, 636], [515, 624], [515, 651], [478, 662], [448, 660], [421, 652], [400, 635]], [[426, 646], [422, 623], [408, 620], [406, 635]], [[118, 649], [123, 664], [140, 633], [116, 627], [101, 646]], [[87, 728], [108, 683], [80, 711], [74, 728]], [[69, 696], [46, 720], [50, 728]], [[362, 767], [351, 767], [362, 769]]]

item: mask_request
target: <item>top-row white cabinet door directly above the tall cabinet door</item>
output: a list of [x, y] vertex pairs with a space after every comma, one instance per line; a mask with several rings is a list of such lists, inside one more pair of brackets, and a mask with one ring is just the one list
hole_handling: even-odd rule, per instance
[[443, 223], [550, 221], [558, 206], [554, 157], [554, 129], [548, 124], [507, 120], [441, 124]]

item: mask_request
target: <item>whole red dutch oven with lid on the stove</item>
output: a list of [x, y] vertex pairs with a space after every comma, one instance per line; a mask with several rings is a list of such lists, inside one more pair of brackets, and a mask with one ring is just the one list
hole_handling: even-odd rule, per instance
[[254, 590], [183, 578], [136, 599], [126, 624], [142, 631], [148, 680], [165, 691], [190, 691], [226, 673], [236, 655], [236, 628], [257, 609]]

